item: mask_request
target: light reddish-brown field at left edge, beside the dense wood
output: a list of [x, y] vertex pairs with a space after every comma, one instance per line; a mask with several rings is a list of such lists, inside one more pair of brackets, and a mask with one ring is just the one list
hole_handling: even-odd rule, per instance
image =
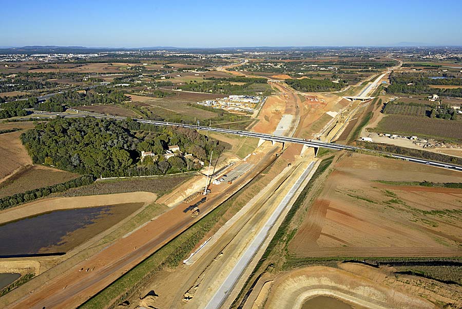
[[0, 183], [18, 169], [32, 164], [20, 140], [21, 131], [0, 134]]

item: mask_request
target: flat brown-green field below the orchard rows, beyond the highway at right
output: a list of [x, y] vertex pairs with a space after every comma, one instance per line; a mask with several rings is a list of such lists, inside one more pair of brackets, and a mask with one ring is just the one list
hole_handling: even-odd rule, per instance
[[427, 117], [386, 115], [375, 131], [402, 135], [425, 135], [443, 139], [462, 140], [462, 122]]

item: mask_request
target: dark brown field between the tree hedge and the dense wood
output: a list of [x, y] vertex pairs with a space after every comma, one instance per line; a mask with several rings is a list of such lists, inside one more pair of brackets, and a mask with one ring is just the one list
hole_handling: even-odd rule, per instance
[[44, 166], [27, 166], [0, 183], [0, 198], [65, 183], [79, 175]]

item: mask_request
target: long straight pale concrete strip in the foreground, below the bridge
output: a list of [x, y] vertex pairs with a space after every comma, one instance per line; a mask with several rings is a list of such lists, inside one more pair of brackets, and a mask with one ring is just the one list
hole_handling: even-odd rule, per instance
[[294, 196], [294, 194], [297, 192], [303, 180], [305, 180], [305, 178], [310, 174], [314, 165], [315, 161], [312, 161], [310, 165], [306, 168], [306, 170], [297, 179], [296, 183], [292, 186], [291, 190], [284, 196], [281, 203], [279, 203], [273, 214], [269, 217], [268, 221], [266, 221], [265, 225], [260, 229], [254, 240], [251, 242], [251, 244], [249, 244], [244, 254], [239, 258], [234, 268], [231, 270], [224, 282], [218, 288], [217, 292], [215, 292], [214, 296], [210, 299], [205, 309], [220, 308], [220, 306], [226, 300], [228, 294], [232, 291], [234, 285], [238, 281], [245, 267], [251, 262], [255, 253], [258, 251], [258, 249], [266, 239], [269, 229], [273, 227], [279, 215], [285, 209], [285, 207], [287, 206], [291, 198]]

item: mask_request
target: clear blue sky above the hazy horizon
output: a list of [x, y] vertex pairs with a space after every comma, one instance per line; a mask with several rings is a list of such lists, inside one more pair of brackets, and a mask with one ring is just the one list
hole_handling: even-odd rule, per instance
[[0, 46], [462, 45], [461, 0], [0, 0]]

